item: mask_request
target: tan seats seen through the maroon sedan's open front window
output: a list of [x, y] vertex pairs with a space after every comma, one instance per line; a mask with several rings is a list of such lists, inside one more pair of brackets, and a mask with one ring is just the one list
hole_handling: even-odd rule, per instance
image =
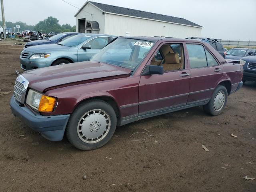
[[153, 57], [151, 60], [151, 65], [163, 66], [164, 71], [184, 69], [183, 48], [181, 48], [181, 56], [172, 50], [170, 44], [161, 46], [159, 52], [164, 57], [164, 59], [156, 60], [155, 57]]

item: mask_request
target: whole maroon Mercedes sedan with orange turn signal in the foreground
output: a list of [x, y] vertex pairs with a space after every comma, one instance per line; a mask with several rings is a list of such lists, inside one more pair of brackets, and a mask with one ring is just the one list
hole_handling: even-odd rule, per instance
[[220, 114], [243, 68], [198, 40], [119, 37], [90, 61], [19, 75], [14, 116], [52, 141], [81, 150], [106, 144], [116, 126], [194, 106]]

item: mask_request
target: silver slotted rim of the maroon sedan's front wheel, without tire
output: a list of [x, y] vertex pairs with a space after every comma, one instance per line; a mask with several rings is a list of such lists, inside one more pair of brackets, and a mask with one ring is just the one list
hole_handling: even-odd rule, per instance
[[86, 143], [96, 143], [102, 140], [110, 130], [110, 117], [100, 109], [85, 113], [77, 125], [79, 138]]

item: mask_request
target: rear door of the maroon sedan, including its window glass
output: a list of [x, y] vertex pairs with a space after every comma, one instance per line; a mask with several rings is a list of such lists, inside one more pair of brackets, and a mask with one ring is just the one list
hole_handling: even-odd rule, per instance
[[191, 76], [187, 104], [207, 101], [223, 76], [223, 67], [202, 44], [187, 43], [186, 49]]

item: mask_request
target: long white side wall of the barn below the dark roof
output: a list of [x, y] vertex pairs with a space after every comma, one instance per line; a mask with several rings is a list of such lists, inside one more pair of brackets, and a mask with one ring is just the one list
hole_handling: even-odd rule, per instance
[[166, 22], [132, 18], [114, 14], [105, 14], [105, 34], [125, 36], [168, 36], [186, 38], [200, 37], [202, 28], [171, 24]]

